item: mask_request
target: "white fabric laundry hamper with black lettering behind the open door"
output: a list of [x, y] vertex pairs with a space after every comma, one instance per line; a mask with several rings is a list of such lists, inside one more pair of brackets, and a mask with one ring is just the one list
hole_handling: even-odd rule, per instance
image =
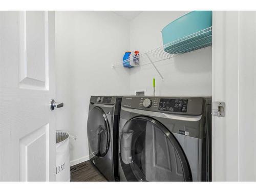
[[70, 156], [68, 132], [56, 131], [56, 181], [70, 181]]

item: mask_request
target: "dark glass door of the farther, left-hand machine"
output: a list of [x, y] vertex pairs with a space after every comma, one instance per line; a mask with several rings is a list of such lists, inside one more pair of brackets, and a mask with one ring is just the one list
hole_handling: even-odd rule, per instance
[[110, 130], [104, 111], [96, 106], [89, 112], [87, 135], [91, 153], [103, 157], [108, 152]]

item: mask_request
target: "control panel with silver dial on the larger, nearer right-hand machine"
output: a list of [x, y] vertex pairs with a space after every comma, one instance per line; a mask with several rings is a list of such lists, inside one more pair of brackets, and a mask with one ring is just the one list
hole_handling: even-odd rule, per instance
[[175, 113], [184, 115], [200, 115], [203, 108], [202, 97], [152, 97], [125, 96], [122, 106], [145, 111]]

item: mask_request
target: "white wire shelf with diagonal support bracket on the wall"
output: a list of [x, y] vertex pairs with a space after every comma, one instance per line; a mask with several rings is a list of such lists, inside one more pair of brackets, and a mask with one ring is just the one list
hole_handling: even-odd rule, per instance
[[[183, 53], [211, 46], [211, 39], [212, 27], [209, 27], [186, 37], [169, 42], [168, 44], [154, 50], [139, 54], [138, 56], [131, 56], [129, 59], [118, 62], [112, 67], [115, 68], [123, 66], [123, 63], [130, 63], [130, 65], [133, 67], [153, 64], [157, 70], [156, 66], [154, 65], [155, 62], [163, 61]], [[139, 65], [134, 64], [135, 60], [139, 60]], [[157, 72], [159, 73], [158, 70]], [[160, 73], [159, 75], [161, 76]]]

